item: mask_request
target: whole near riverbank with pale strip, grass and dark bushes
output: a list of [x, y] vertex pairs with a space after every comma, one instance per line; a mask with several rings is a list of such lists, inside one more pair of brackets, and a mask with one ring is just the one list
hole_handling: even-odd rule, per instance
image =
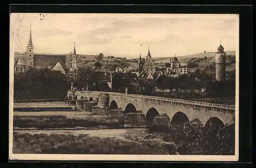
[[13, 132], [13, 153], [18, 154], [234, 155], [233, 150], [230, 137], [186, 136], [182, 131], [158, 133], [131, 128]]

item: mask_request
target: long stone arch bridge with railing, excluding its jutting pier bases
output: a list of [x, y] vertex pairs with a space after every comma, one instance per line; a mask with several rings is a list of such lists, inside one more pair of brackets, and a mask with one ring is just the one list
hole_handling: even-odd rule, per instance
[[124, 113], [141, 110], [146, 119], [166, 113], [171, 123], [185, 123], [198, 118], [203, 126], [209, 123], [224, 126], [234, 124], [235, 121], [236, 107], [232, 105], [101, 91], [69, 91], [68, 96], [97, 102], [101, 93], [110, 95], [110, 109], [122, 108]]

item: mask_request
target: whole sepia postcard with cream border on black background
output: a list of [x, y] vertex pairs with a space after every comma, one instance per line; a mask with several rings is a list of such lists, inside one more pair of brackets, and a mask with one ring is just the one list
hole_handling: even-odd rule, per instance
[[10, 14], [10, 160], [238, 161], [239, 15]]

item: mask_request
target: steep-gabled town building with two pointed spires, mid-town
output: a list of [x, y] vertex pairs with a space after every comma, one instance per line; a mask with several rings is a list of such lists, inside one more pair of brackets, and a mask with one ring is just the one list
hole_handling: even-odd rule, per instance
[[137, 69], [140, 73], [142, 71], [145, 71], [145, 72], [151, 73], [151, 74], [155, 73], [156, 64], [154, 63], [154, 60], [151, 57], [150, 47], [148, 47], [148, 53], [144, 59], [141, 59], [141, 54], [140, 54], [140, 58], [139, 58], [139, 61], [137, 64]]

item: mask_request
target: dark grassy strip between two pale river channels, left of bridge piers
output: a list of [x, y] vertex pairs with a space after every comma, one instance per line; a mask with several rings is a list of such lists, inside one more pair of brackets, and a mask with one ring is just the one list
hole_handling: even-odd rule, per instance
[[122, 124], [113, 119], [74, 119], [65, 115], [45, 115], [45, 116], [14, 116], [13, 127], [18, 128], [75, 128], [75, 127], [109, 127], [121, 128]]

